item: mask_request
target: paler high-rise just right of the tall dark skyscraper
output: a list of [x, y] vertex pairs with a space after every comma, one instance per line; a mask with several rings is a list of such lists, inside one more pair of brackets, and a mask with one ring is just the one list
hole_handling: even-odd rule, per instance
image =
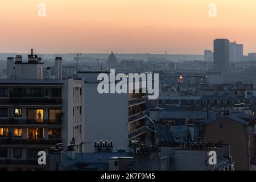
[[230, 42], [229, 44], [229, 61], [230, 62], [240, 62], [243, 58], [243, 44], [237, 44], [235, 42]]

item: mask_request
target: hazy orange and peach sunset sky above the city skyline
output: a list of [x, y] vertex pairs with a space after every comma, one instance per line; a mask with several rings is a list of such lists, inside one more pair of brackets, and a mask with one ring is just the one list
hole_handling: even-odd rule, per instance
[[255, 0], [1, 0], [0, 52], [203, 54], [228, 38], [247, 54], [256, 52], [255, 22]]

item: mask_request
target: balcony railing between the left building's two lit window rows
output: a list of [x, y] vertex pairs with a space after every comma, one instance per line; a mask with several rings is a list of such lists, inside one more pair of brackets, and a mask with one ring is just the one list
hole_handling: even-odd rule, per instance
[[0, 119], [0, 125], [61, 125], [62, 119], [41, 119], [40, 122], [38, 119]]

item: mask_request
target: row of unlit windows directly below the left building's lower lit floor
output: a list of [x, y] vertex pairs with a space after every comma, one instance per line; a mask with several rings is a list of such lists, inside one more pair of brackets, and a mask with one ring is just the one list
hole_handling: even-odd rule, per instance
[[[23, 151], [23, 148], [13, 148], [13, 157], [22, 158]], [[27, 148], [26, 159], [38, 159], [39, 151], [43, 151], [43, 148]], [[0, 158], [8, 158], [8, 148], [0, 148]]]

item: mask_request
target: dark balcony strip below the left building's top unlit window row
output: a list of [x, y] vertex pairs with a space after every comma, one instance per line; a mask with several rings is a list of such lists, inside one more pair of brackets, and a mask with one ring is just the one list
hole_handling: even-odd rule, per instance
[[0, 105], [62, 105], [61, 98], [6, 98]]

